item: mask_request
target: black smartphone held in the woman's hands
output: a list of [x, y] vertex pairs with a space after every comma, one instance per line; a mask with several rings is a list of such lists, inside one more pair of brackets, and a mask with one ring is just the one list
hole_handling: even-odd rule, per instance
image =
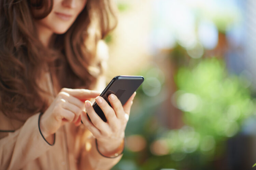
[[[108, 86], [106, 86], [106, 88], [103, 90], [100, 96], [103, 97], [111, 106], [108, 100], [108, 96], [110, 94], [114, 94], [120, 100], [122, 105], [124, 105], [127, 102], [127, 100], [131, 97], [131, 95], [140, 87], [143, 81], [144, 77], [142, 76], [118, 75], [111, 80], [111, 82], [108, 84]], [[94, 102], [93, 108], [95, 112], [99, 115], [99, 117], [104, 122], [106, 122], [106, 117], [96, 102]]]

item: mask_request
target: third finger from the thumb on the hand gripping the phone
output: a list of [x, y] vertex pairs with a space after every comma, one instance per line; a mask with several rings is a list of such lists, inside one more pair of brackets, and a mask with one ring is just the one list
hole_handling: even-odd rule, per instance
[[[107, 124], [94, 111], [94, 108], [91, 105], [90, 101], [88, 101], [88, 100], [85, 101], [85, 107], [86, 107], [86, 112], [89, 115], [91, 122], [94, 124], [94, 126], [97, 129], [99, 129], [102, 133], [106, 132], [108, 130]], [[82, 121], [83, 121], [83, 119], [82, 119]]]

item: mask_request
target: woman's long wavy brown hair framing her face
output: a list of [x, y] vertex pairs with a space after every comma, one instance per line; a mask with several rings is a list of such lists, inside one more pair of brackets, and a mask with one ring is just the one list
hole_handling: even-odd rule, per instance
[[69, 30], [54, 35], [46, 48], [34, 20], [46, 17], [52, 7], [52, 0], [0, 1], [0, 111], [10, 118], [25, 121], [23, 113], [46, 110], [49, 104], [40, 93], [47, 92], [38, 84], [45, 68], [60, 88], [90, 89], [101, 73], [96, 46], [116, 26], [112, 2], [87, 0]]

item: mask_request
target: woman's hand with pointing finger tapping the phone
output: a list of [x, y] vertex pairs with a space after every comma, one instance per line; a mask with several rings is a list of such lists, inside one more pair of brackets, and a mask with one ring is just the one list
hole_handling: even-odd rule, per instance
[[85, 108], [85, 103], [82, 101], [96, 98], [99, 95], [100, 93], [94, 90], [62, 88], [40, 118], [42, 135], [47, 138], [67, 122], [79, 125], [80, 115]]

